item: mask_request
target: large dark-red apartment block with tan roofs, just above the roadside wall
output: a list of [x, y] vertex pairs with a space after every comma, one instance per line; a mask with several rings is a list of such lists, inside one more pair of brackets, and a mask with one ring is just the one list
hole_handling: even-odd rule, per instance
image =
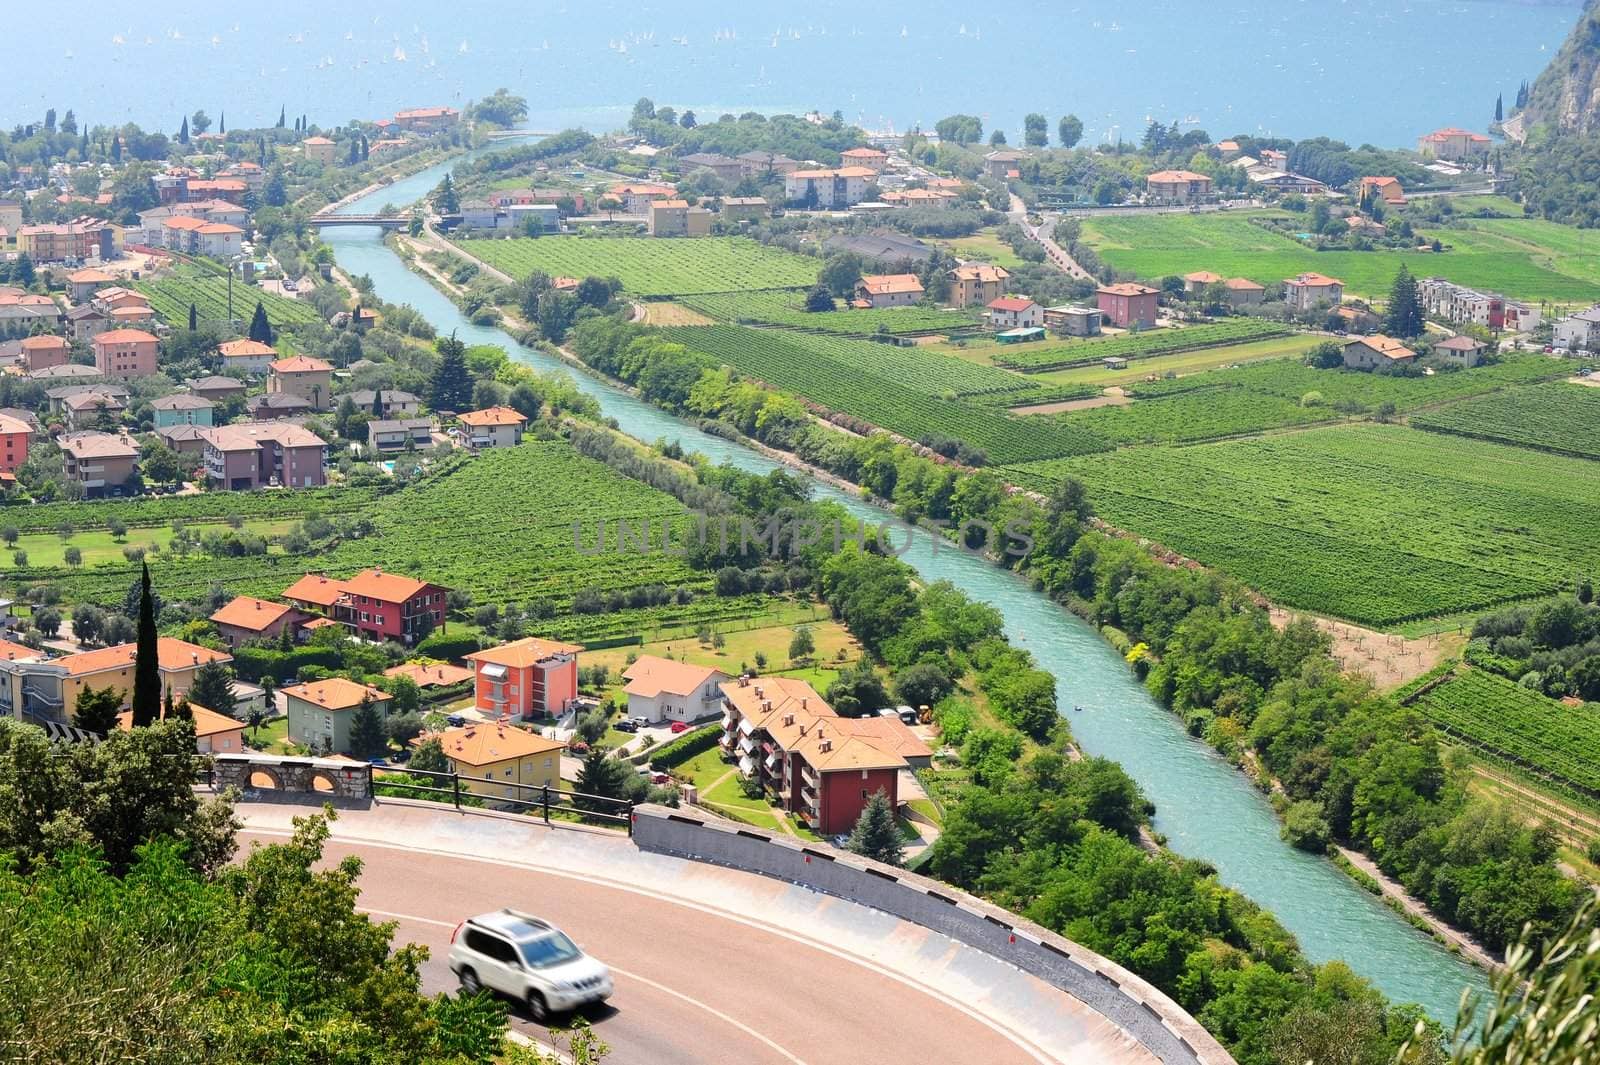
[[782, 809], [824, 836], [850, 832], [899, 774], [930, 752], [899, 718], [840, 718], [816, 691], [782, 676], [722, 684], [722, 748]]

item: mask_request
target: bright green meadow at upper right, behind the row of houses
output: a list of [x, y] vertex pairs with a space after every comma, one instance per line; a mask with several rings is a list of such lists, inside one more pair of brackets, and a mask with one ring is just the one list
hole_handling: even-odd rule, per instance
[[1381, 299], [1405, 262], [1418, 277], [1445, 277], [1523, 299], [1587, 304], [1600, 297], [1600, 270], [1552, 243], [1576, 241], [1579, 230], [1523, 219], [1477, 219], [1470, 225], [1470, 232], [1424, 227], [1450, 248], [1440, 254], [1314, 251], [1235, 213], [1096, 217], [1083, 224], [1083, 240], [1109, 265], [1142, 278], [1211, 270], [1275, 285], [1315, 272], [1341, 278], [1349, 296]]

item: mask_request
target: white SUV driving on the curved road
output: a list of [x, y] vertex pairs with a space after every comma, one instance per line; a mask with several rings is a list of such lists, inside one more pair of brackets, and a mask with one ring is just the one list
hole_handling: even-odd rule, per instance
[[611, 971], [547, 921], [499, 910], [450, 934], [450, 971], [466, 993], [480, 988], [526, 1003], [534, 1020], [611, 998]]

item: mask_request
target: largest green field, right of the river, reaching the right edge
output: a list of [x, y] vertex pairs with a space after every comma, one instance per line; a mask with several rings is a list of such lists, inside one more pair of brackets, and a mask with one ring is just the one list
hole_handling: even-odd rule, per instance
[[1018, 465], [1286, 606], [1395, 625], [1554, 592], [1594, 561], [1600, 465], [1363, 422]]

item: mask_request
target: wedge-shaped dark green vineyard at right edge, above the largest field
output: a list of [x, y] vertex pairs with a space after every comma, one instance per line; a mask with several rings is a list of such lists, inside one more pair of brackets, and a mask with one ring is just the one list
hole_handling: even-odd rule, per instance
[[1411, 417], [1435, 433], [1600, 459], [1600, 389], [1550, 382], [1501, 392]]

